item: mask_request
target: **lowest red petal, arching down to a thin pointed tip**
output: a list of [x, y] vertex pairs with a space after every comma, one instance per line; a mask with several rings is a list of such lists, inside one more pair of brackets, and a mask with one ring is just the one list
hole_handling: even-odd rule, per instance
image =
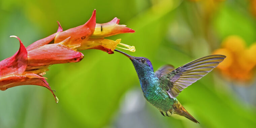
[[56, 103], [58, 103], [58, 98], [53, 93], [53, 90], [49, 86], [49, 84], [45, 81], [44, 77], [34, 74], [28, 73], [25, 75], [12, 75], [8, 77], [0, 78], [0, 90], [4, 91], [11, 87], [21, 86], [21, 85], [38, 85], [49, 89]]

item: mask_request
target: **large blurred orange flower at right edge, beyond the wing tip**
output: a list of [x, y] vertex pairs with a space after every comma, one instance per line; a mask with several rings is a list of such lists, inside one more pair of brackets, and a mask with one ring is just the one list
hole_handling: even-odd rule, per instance
[[250, 82], [255, 74], [256, 42], [247, 48], [241, 37], [232, 35], [223, 40], [221, 47], [213, 52], [227, 56], [217, 67], [221, 73], [234, 81]]

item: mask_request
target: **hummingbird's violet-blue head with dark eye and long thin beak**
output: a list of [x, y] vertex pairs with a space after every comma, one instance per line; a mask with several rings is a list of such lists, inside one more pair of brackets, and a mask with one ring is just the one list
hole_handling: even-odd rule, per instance
[[138, 71], [150, 71], [150, 70], [154, 72], [153, 66], [149, 59], [145, 57], [134, 57], [119, 50], [115, 50], [115, 51], [128, 57], [132, 61], [132, 64], [135, 67], [135, 70], [137, 71], [137, 73]]

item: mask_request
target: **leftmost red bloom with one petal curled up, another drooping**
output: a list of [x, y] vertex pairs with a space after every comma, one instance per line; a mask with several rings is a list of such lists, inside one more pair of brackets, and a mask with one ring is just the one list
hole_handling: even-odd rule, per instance
[[[17, 36], [10, 36], [16, 37]], [[44, 77], [35, 73], [25, 72], [28, 63], [27, 50], [23, 43], [20, 41], [20, 49], [12, 57], [9, 57], [0, 62], [0, 90], [4, 91], [8, 88], [20, 85], [38, 85], [49, 89], [55, 101], [58, 98], [54, 95], [53, 90], [45, 81]]]

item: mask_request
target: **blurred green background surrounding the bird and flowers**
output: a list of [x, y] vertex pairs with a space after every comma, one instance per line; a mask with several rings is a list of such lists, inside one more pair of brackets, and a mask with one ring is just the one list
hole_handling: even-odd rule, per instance
[[[254, 0], [1, 0], [0, 60], [12, 56], [21, 38], [25, 46], [57, 31], [84, 24], [96, 9], [96, 22], [117, 17], [135, 33], [119, 34], [134, 45], [132, 56], [147, 57], [156, 70], [179, 67], [211, 55], [229, 35], [256, 41]], [[209, 73], [177, 98], [200, 124], [163, 117], [146, 102], [130, 60], [119, 53], [82, 51], [79, 63], [57, 64], [46, 72], [56, 90], [18, 86], [0, 92], [0, 128], [227, 128], [256, 126], [255, 75], [250, 83]], [[252, 55], [256, 56], [256, 55]], [[255, 69], [255, 68], [254, 68]], [[255, 70], [254, 70], [255, 71]]]

